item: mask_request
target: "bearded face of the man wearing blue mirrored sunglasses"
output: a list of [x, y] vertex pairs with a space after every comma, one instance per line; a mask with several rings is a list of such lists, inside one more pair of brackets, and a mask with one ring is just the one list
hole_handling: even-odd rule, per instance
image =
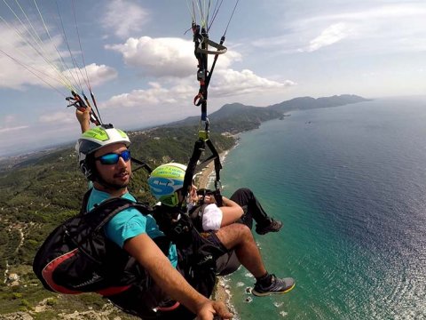
[[100, 148], [94, 155], [95, 158], [98, 158], [95, 165], [100, 178], [114, 188], [126, 188], [129, 185], [131, 175], [130, 159], [125, 161], [122, 156], [119, 156], [116, 164], [102, 164], [99, 156], [108, 154], [121, 155], [126, 150], [127, 147], [123, 143], [114, 143]]

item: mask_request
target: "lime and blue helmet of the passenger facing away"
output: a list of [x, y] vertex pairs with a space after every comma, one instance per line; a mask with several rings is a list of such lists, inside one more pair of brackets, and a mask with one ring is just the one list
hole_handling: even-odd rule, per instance
[[186, 165], [170, 163], [155, 168], [148, 178], [151, 194], [169, 206], [179, 203], [177, 190], [184, 186]]

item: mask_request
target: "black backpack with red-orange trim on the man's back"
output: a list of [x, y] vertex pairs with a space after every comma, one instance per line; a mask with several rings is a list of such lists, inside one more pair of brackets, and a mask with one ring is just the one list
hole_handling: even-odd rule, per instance
[[59, 293], [98, 292], [104, 296], [125, 291], [130, 284], [146, 283], [146, 271], [117, 244], [106, 239], [103, 227], [115, 214], [137, 207], [123, 198], [111, 198], [86, 212], [89, 190], [80, 214], [63, 222], [36, 252], [33, 270], [44, 288]]

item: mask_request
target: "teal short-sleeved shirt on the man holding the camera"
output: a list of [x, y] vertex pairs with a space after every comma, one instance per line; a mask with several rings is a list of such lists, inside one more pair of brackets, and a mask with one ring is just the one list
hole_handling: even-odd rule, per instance
[[[89, 201], [87, 202], [87, 210], [90, 211], [93, 209], [95, 204], [100, 204], [109, 197], [110, 195], [106, 192], [93, 188]], [[134, 196], [131, 196], [130, 193], [122, 195], [122, 198], [136, 202], [136, 199]], [[118, 244], [121, 248], [126, 240], [133, 236], [138, 236], [144, 233], [146, 233], [151, 239], [154, 239], [157, 236], [164, 236], [162, 231], [158, 228], [153, 216], [150, 214], [143, 215], [135, 208], [129, 208], [122, 212], [118, 212], [113, 219], [108, 221], [104, 230], [106, 237], [115, 244]], [[171, 264], [176, 268], [177, 251], [175, 244], [170, 245], [168, 258]]]

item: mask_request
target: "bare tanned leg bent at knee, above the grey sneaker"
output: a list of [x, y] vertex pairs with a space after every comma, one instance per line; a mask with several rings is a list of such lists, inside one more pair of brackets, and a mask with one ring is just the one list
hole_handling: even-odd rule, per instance
[[238, 260], [253, 276], [259, 278], [267, 274], [255, 239], [246, 225], [234, 223], [220, 228], [216, 235], [226, 249], [235, 250]]

